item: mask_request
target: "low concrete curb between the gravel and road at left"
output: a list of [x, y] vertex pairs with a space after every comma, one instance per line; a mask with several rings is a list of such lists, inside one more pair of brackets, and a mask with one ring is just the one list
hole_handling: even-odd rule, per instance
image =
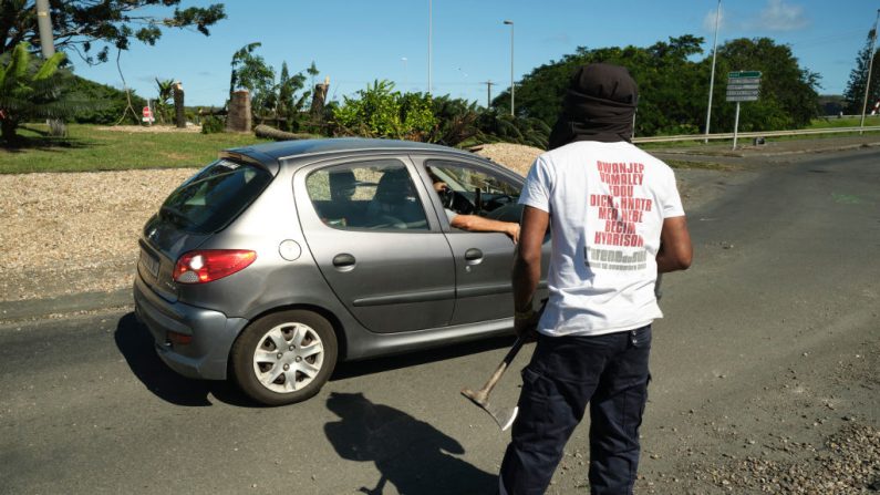
[[0, 323], [130, 305], [132, 305], [132, 290], [127, 288], [110, 292], [81, 292], [45, 299], [0, 301]]

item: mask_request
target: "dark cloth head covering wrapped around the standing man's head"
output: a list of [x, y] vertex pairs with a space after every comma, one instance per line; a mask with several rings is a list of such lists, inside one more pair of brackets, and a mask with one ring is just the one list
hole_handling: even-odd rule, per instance
[[549, 148], [573, 141], [629, 142], [638, 100], [639, 87], [627, 69], [609, 63], [580, 66], [566, 90]]

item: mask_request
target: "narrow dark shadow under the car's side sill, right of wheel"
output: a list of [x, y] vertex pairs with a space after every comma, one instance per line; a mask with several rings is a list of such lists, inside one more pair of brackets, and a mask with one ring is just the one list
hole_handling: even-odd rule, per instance
[[[372, 358], [364, 361], [341, 362], [337, 364], [337, 370], [333, 372], [330, 381], [344, 380], [349, 378], [362, 377], [365, 374], [382, 373], [384, 371], [392, 371], [401, 368], [417, 367], [420, 364], [427, 364], [436, 361], [445, 361], [447, 359], [462, 358], [480, 352], [510, 348], [515, 340], [516, 338], [514, 336], [491, 337], [488, 339], [438, 347], [405, 354]], [[498, 358], [498, 362], [500, 362], [500, 358]]]

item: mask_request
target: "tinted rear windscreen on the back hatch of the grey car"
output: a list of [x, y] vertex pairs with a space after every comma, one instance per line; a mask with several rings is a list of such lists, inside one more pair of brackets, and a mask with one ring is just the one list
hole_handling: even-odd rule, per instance
[[159, 216], [189, 233], [216, 233], [253, 203], [271, 179], [258, 166], [219, 159], [172, 193]]

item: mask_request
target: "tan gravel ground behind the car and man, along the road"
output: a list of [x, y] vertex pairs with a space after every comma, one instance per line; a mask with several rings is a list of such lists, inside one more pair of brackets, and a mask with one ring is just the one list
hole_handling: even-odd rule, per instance
[[[486, 145], [478, 154], [525, 175], [540, 149]], [[198, 168], [0, 175], [0, 302], [131, 287], [137, 238], [167, 195]], [[679, 171], [696, 208], [746, 171]]]

